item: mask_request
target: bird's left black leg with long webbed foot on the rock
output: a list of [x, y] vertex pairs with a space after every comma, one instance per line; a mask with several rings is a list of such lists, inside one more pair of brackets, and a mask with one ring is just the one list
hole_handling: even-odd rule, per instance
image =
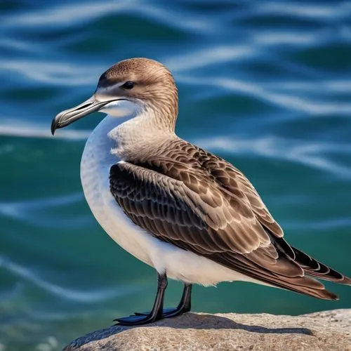
[[164, 308], [164, 292], [168, 285], [166, 273], [159, 274], [157, 272], [157, 293], [154, 300], [154, 306], [151, 312], [147, 314], [135, 314], [134, 316], [122, 317], [114, 319], [117, 322], [116, 325], [122, 326], [137, 326], [140, 324], [147, 324], [156, 322], [163, 318], [163, 308]]

